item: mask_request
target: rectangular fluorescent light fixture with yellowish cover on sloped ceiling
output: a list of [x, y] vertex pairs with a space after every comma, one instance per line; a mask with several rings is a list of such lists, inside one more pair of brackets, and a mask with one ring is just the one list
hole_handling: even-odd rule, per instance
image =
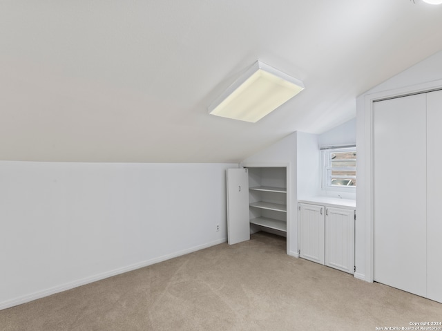
[[303, 89], [300, 80], [257, 61], [209, 106], [209, 113], [255, 123]]

